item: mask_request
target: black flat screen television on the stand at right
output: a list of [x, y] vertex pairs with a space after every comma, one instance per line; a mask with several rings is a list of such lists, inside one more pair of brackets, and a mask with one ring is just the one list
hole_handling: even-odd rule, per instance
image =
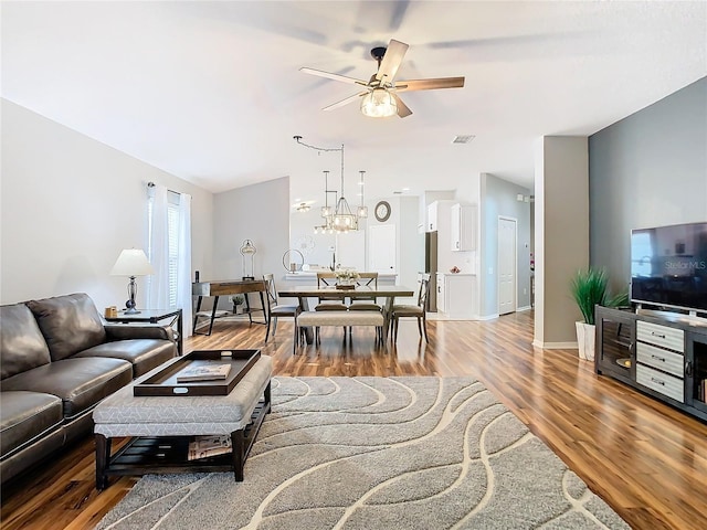
[[707, 222], [631, 231], [631, 301], [707, 312]]

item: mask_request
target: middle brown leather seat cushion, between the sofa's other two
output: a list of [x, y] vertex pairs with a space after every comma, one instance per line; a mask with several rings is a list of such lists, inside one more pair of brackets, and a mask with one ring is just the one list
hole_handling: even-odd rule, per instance
[[53, 361], [2, 381], [2, 391], [29, 390], [62, 399], [64, 417], [93, 407], [133, 381], [133, 365], [123, 359], [85, 358]]

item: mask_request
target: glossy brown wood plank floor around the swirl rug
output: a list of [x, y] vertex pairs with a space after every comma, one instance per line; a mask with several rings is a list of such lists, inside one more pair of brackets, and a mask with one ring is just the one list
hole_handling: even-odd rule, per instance
[[[707, 528], [707, 425], [593, 373], [576, 350], [537, 350], [532, 314], [485, 322], [429, 321], [430, 344], [414, 321], [398, 347], [373, 348], [373, 331], [324, 328], [321, 346], [292, 354], [292, 325], [274, 341], [264, 326], [219, 321], [192, 349], [262, 348], [278, 375], [473, 375], [636, 529]], [[93, 439], [2, 491], [3, 529], [92, 528], [135, 484], [94, 489]]]

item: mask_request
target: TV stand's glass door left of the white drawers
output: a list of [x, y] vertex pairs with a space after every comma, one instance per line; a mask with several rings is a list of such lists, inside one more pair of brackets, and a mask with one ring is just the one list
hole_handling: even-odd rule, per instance
[[635, 315], [597, 308], [597, 373], [609, 372], [626, 382], [636, 379]]

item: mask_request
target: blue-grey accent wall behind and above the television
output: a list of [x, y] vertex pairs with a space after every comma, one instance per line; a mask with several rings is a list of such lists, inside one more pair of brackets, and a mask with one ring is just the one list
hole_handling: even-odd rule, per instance
[[632, 229], [707, 221], [707, 77], [589, 138], [590, 262], [626, 288]]

